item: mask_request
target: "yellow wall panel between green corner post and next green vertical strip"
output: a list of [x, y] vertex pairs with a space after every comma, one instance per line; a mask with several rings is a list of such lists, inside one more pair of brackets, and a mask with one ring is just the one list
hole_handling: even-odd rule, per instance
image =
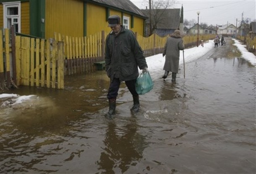
[[[46, 0], [45, 38], [54, 33], [84, 36], [84, 3], [81, 0]], [[69, 13], [67, 13], [69, 12]]]

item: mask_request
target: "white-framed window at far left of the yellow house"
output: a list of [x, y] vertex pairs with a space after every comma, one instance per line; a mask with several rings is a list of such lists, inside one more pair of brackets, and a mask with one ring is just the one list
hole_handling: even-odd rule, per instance
[[14, 26], [14, 31], [21, 33], [21, 2], [3, 3], [3, 27]]

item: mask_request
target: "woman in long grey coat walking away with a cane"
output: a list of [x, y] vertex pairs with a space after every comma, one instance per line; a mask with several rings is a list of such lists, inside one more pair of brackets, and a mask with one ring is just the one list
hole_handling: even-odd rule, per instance
[[165, 56], [165, 65], [163, 70], [165, 74], [162, 77], [165, 79], [169, 72], [172, 72], [172, 82], [176, 81], [176, 74], [178, 73], [179, 61], [180, 61], [180, 50], [185, 49], [183, 40], [180, 36], [180, 31], [175, 30], [170, 37], [167, 38], [165, 43], [165, 49], [163, 57]]

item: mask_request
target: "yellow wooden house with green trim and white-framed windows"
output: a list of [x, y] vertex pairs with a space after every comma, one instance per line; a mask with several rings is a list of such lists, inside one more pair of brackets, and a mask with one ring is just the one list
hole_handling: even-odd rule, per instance
[[0, 28], [13, 25], [18, 33], [40, 38], [110, 31], [107, 18], [115, 14], [126, 28], [144, 35], [146, 16], [130, 0], [0, 0]]

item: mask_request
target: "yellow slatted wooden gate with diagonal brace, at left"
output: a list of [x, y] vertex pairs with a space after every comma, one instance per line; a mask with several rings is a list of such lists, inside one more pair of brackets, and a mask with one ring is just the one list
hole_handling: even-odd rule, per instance
[[17, 85], [64, 88], [63, 42], [16, 36]]

